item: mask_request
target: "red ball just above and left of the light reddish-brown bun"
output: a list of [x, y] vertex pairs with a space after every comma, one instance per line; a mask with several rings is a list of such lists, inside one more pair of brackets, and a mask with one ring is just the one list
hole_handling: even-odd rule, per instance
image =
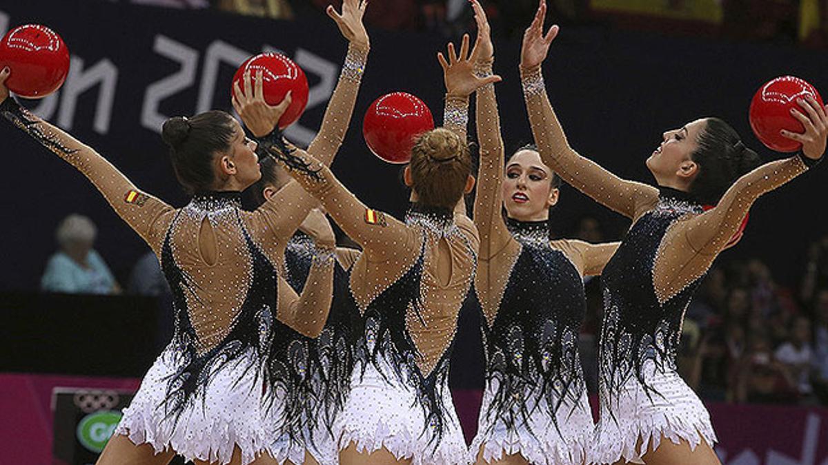
[[368, 148], [383, 161], [394, 164], [408, 163], [416, 137], [431, 129], [431, 110], [421, 99], [405, 92], [377, 98], [363, 119], [363, 137]]

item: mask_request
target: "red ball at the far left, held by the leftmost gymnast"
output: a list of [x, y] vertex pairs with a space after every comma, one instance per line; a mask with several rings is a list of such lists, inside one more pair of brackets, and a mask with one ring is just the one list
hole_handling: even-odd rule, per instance
[[25, 98], [43, 98], [60, 88], [69, 74], [69, 49], [46, 26], [26, 24], [0, 41], [0, 69], [12, 71], [6, 86]]

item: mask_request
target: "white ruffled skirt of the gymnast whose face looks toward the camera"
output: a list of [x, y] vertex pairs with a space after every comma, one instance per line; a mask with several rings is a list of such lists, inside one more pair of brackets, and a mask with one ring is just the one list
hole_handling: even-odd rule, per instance
[[[483, 447], [486, 462], [503, 459], [503, 454], [520, 453], [529, 463], [536, 465], [581, 465], [589, 450], [595, 423], [590, 413], [586, 392], [580, 395], [577, 405], [561, 405], [556, 411], [557, 428], [549, 415], [546, 399], [537, 404], [531, 400], [527, 410], [528, 422], [508, 428], [499, 416], [486, 415], [493, 395], [498, 390], [498, 380], [489, 381], [483, 395], [478, 419], [478, 433], [469, 448], [472, 460]], [[531, 395], [527, 395], [532, 399]], [[515, 418], [521, 418], [519, 414]]]

